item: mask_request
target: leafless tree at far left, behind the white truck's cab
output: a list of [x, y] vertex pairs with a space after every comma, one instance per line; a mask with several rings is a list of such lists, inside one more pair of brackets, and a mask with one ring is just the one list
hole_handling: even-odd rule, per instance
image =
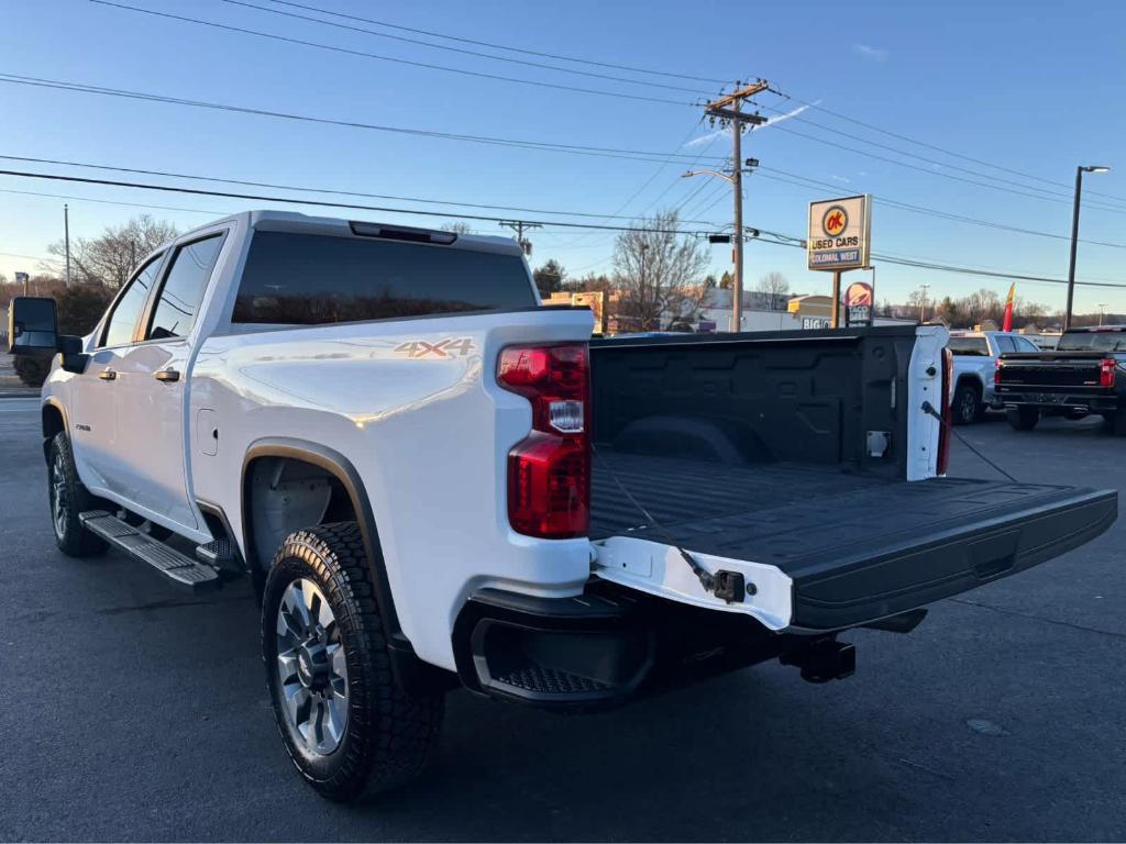
[[[148, 214], [123, 226], [109, 226], [98, 237], [71, 241], [71, 276], [80, 284], [124, 285], [146, 254], [179, 234], [176, 226]], [[47, 252], [64, 258], [66, 246], [56, 241]]]

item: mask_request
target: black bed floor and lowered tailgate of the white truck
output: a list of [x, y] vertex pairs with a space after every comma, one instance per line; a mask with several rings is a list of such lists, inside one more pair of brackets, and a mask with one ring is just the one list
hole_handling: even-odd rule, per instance
[[[605, 580], [744, 612], [776, 630], [832, 630], [1029, 568], [1098, 536], [1117, 515], [1112, 491], [908, 483], [837, 466], [731, 466], [600, 450], [591, 538]], [[678, 546], [713, 573], [743, 574], [753, 594], [729, 604], [706, 593]]]

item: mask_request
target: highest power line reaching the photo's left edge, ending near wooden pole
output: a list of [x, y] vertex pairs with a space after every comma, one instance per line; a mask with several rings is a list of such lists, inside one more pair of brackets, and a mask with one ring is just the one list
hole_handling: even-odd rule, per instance
[[[191, 108], [205, 108], [217, 111], [231, 111], [235, 114], [254, 115], [258, 117], [272, 117], [284, 120], [297, 120], [301, 123], [313, 123], [328, 126], [343, 126], [347, 128], [366, 129], [372, 132], [388, 132], [393, 134], [409, 135], [412, 137], [432, 137], [445, 141], [462, 141], [465, 143], [488, 144], [494, 146], [510, 146], [510, 147], [527, 149], [527, 150], [542, 150], [548, 152], [564, 152], [573, 155], [622, 159], [626, 161], [668, 163], [667, 159], [670, 158], [664, 153], [644, 152], [640, 150], [622, 150], [609, 146], [583, 146], [580, 144], [560, 144], [547, 141], [526, 141], [517, 138], [494, 137], [491, 135], [467, 135], [453, 132], [437, 132], [434, 129], [415, 129], [405, 126], [390, 126], [385, 124], [363, 123], [360, 120], [342, 120], [329, 117], [314, 117], [311, 115], [298, 115], [287, 111], [272, 111], [269, 109], [253, 108], [250, 106], [233, 106], [224, 102], [191, 100], [191, 99], [171, 97], [160, 93], [131, 91], [122, 88], [91, 86], [82, 82], [68, 82], [63, 80], [43, 79], [39, 77], [25, 77], [16, 73], [7, 73], [3, 71], [0, 71], [0, 82], [7, 82], [9, 84], [30, 86], [35, 88], [51, 88], [61, 91], [71, 91], [73, 93], [95, 93], [104, 97], [119, 97], [124, 99], [135, 99], [149, 102], [163, 102], [172, 106], [187, 106]], [[672, 158], [687, 159], [688, 155], [678, 153]]]

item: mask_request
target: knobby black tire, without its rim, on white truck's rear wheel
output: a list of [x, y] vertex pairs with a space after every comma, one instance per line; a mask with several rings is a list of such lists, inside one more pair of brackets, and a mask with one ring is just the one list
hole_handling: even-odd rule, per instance
[[[382, 560], [376, 560], [381, 564]], [[278, 608], [294, 581], [312, 581], [336, 617], [348, 671], [348, 718], [331, 753], [311, 752], [293, 726], [277, 671]], [[274, 556], [262, 598], [262, 659], [278, 730], [289, 758], [321, 796], [346, 801], [415, 778], [437, 743], [440, 693], [408, 695], [396, 684], [375, 600], [372, 569], [355, 522], [291, 533]]]

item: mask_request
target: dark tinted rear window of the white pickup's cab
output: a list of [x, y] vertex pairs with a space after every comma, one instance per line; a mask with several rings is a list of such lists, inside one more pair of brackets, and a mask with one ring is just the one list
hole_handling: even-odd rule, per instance
[[316, 325], [535, 305], [517, 255], [258, 232], [231, 321]]

